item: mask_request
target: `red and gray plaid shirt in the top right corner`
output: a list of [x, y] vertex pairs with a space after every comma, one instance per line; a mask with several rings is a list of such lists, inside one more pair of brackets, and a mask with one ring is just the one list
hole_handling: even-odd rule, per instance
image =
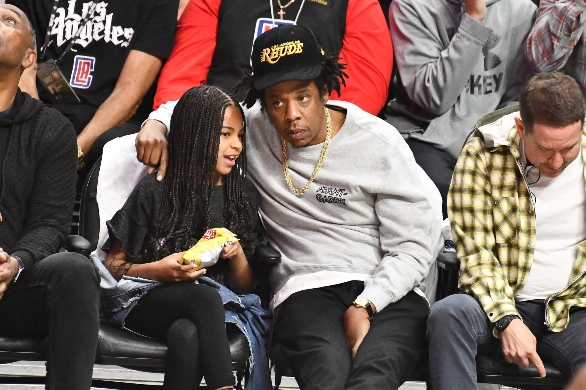
[[541, 0], [527, 37], [527, 59], [540, 72], [564, 70], [586, 97], [586, 0]]

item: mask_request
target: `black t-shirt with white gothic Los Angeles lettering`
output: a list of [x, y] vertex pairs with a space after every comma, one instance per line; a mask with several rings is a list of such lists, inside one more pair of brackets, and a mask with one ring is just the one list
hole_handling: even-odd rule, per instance
[[[17, 6], [29, 17], [40, 50], [45, 42], [53, 0], [6, 0], [6, 4]], [[91, 4], [91, 0], [59, 0], [51, 32], [52, 43], [47, 47], [45, 60], [56, 60], [63, 53]], [[113, 91], [130, 50], [163, 59], [169, 57], [177, 28], [178, 6], [179, 0], [96, 0], [93, 18], [59, 63], [81, 104], [51, 105], [48, 92], [37, 83], [39, 98], [61, 111], [76, 127], [78, 123], [89, 122]], [[71, 112], [79, 118], [71, 119]]]

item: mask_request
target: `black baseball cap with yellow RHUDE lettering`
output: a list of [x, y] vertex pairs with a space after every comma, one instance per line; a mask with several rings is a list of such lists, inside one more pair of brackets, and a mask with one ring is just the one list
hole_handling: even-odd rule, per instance
[[258, 36], [253, 44], [254, 88], [289, 80], [311, 80], [322, 72], [326, 54], [314, 32], [304, 26], [281, 25]]

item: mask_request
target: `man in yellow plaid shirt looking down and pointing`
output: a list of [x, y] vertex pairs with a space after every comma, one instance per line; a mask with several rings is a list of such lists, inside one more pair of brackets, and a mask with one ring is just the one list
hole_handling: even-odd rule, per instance
[[[575, 80], [534, 76], [516, 108], [477, 122], [452, 177], [448, 215], [459, 289], [427, 322], [434, 390], [476, 389], [477, 352], [586, 363], [586, 135]], [[507, 115], [505, 115], [507, 114]], [[500, 340], [499, 340], [500, 339]]]

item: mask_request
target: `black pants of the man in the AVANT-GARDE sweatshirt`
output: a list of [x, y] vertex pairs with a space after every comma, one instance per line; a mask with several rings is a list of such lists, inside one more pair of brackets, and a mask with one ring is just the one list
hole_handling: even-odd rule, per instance
[[304, 390], [392, 390], [427, 356], [427, 302], [415, 292], [376, 313], [352, 361], [344, 313], [363, 290], [352, 281], [297, 292], [278, 306], [270, 357]]

